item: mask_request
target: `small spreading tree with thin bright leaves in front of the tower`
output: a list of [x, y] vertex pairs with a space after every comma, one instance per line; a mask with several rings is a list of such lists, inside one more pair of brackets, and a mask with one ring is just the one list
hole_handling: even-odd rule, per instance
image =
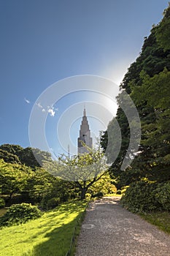
[[108, 170], [107, 160], [101, 148], [89, 149], [88, 153], [73, 157], [63, 154], [58, 162], [45, 162], [43, 166], [54, 176], [69, 181], [78, 189], [81, 200], [85, 199], [88, 189], [103, 178]]

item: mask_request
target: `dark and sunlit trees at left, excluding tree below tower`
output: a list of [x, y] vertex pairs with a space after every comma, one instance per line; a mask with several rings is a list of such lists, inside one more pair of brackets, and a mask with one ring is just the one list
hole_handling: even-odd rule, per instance
[[37, 148], [1, 145], [0, 207], [13, 203], [32, 203], [48, 209], [76, 197], [77, 191], [73, 184], [54, 177], [40, 166], [41, 161], [50, 160], [48, 152]]

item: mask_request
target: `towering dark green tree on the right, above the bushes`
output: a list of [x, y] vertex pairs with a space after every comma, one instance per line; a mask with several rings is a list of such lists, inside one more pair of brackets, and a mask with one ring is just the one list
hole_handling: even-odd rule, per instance
[[[158, 26], [153, 26], [149, 37], [145, 37], [142, 53], [131, 64], [120, 84], [121, 91], [125, 90], [134, 100], [142, 124], [142, 140], [139, 152], [134, 162], [125, 171], [120, 166], [129, 144], [129, 125], [123, 110], [118, 108], [116, 119], [122, 134], [122, 146], [116, 161], [110, 167], [110, 173], [117, 179], [117, 187], [129, 185], [142, 178], [151, 181], [169, 181], [169, 15], [170, 6], [164, 12], [163, 20]], [[113, 119], [101, 139], [101, 146], [107, 148], [107, 133], [112, 129]], [[112, 144], [114, 129], [112, 129]], [[156, 139], [155, 139], [156, 138]], [[113, 146], [114, 149], [114, 146]], [[112, 157], [107, 156], [108, 160]]]

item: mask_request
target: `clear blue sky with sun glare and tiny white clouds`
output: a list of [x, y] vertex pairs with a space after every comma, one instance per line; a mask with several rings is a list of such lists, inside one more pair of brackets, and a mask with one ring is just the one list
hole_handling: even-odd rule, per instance
[[[139, 56], [144, 37], [150, 34], [153, 24], [161, 21], [168, 3], [169, 0], [0, 0], [0, 145], [32, 146], [28, 130], [33, 108], [46, 115], [45, 136], [55, 154], [64, 147], [66, 150], [68, 136], [76, 146], [84, 105], [92, 133], [96, 136], [99, 129], [106, 129], [112, 115], [104, 120], [100, 108], [108, 95], [105, 99], [104, 94], [83, 92], [81, 86], [75, 92], [70, 81], [73, 76], [92, 75], [106, 78], [118, 88], [128, 67]], [[58, 98], [63, 92], [58, 81], [67, 78], [71, 78], [66, 85], [68, 92]], [[40, 95], [52, 85], [58, 86], [58, 102], [42, 105]], [[101, 116], [92, 114], [92, 103], [95, 107], [98, 104]], [[114, 108], [109, 108], [113, 116]], [[72, 116], [69, 109], [77, 116], [67, 124], [68, 116]], [[37, 136], [38, 133], [37, 130]], [[59, 140], [64, 138], [62, 146]]]

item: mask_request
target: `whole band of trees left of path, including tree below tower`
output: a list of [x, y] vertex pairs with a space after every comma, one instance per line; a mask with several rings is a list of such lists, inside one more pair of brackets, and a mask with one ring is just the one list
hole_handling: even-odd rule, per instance
[[[96, 175], [91, 176], [90, 167], [95, 168]], [[38, 148], [0, 146], [0, 208], [32, 203], [50, 209], [74, 198], [83, 200], [116, 192], [112, 183], [107, 163], [98, 151], [53, 161], [50, 153]]]

